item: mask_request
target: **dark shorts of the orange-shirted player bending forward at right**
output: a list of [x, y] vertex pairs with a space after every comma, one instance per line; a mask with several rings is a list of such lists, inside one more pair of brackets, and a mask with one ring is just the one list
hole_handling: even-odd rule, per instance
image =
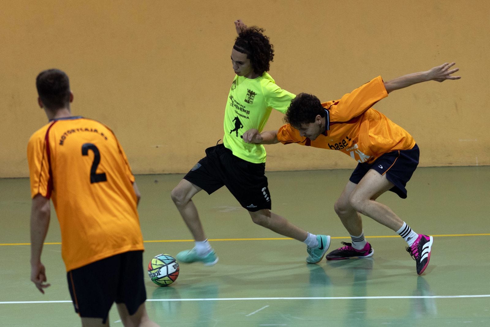
[[359, 163], [350, 176], [349, 180], [358, 184], [369, 169], [374, 169], [394, 186], [390, 191], [396, 193], [400, 198], [407, 198], [405, 186], [414, 174], [418, 165], [419, 150], [417, 144], [410, 150], [391, 151], [380, 156], [371, 164]]

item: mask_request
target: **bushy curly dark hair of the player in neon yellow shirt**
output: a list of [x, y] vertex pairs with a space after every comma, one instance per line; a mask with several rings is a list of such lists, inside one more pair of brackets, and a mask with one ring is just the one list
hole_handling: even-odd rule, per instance
[[269, 71], [274, 58], [274, 47], [269, 38], [262, 34], [264, 31], [264, 28], [257, 26], [247, 27], [238, 35], [233, 46], [233, 49], [246, 54], [254, 73], [259, 75]]

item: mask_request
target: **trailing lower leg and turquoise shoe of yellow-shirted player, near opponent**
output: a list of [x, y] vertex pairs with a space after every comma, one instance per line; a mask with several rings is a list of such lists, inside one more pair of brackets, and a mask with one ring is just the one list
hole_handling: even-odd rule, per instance
[[306, 251], [308, 252], [306, 262], [308, 263], [321, 261], [330, 247], [330, 236], [310, 234], [298, 226], [291, 224], [286, 218], [271, 212], [269, 209], [253, 212], [248, 211], [248, 213], [255, 224], [305, 243], [307, 245]]

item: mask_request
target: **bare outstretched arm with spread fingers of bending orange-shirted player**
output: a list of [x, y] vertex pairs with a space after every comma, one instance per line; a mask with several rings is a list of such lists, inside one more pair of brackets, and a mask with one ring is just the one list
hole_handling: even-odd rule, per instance
[[452, 66], [454, 66], [454, 64], [454, 62], [446, 62], [445, 64], [431, 68], [426, 72], [413, 73], [397, 77], [384, 83], [386, 91], [390, 93], [394, 90], [403, 89], [404, 87], [429, 80], [443, 82], [446, 79], [460, 79], [461, 76], [452, 76], [452, 74], [459, 71], [459, 68], [450, 69]]

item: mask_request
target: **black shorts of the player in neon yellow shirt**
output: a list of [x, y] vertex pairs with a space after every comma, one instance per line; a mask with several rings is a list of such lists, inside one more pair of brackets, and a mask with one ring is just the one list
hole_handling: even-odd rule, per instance
[[265, 163], [243, 160], [218, 144], [206, 149], [206, 156], [199, 160], [184, 179], [202, 188], [208, 194], [223, 185], [248, 211], [270, 209], [270, 193]]

